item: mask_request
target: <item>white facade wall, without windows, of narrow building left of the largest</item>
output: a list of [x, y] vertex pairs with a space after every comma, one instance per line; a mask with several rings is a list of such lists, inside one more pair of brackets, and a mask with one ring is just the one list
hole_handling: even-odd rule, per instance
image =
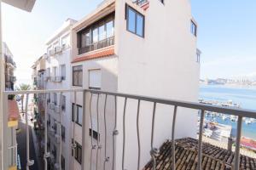
[[[66, 26], [66, 25], [65, 25]], [[70, 25], [71, 26], [71, 25]], [[62, 31], [57, 37], [54, 37], [48, 44], [47, 48], [53, 47], [53, 44], [58, 41], [59, 45], [61, 46], [61, 39], [62, 37], [68, 36], [68, 41], [71, 41], [70, 38], [70, 26], [66, 26], [62, 28], [66, 31]], [[61, 31], [61, 30], [60, 30]], [[71, 42], [69, 42], [71, 43]], [[61, 77], [61, 65], [66, 65], [66, 79], [62, 80], [61, 82], [46, 82], [46, 89], [69, 89], [71, 86], [71, 48], [63, 49], [60, 54], [55, 54], [54, 56], [50, 56], [46, 59], [46, 70], [50, 68], [50, 76], [53, 76], [53, 67], [57, 67], [57, 76]], [[47, 73], [46, 73], [47, 74]], [[49, 75], [46, 75], [49, 76]], [[65, 168], [70, 168], [70, 160], [71, 160], [71, 118], [72, 118], [72, 104], [70, 102], [70, 93], [63, 93], [66, 96], [66, 110], [62, 111], [61, 114], [61, 124], [65, 127], [65, 142], [62, 140], [61, 152], [62, 156], [65, 158]], [[60, 105], [60, 93], [57, 94], [57, 105]], [[53, 94], [51, 94], [51, 102], [53, 102]], [[51, 117], [51, 126], [53, 125], [53, 119], [56, 121], [60, 121], [60, 114], [55, 113], [55, 111], [47, 110], [48, 114]], [[60, 129], [57, 126], [57, 133], [59, 134]], [[59, 151], [60, 151], [60, 144], [56, 143], [55, 138], [49, 135], [51, 146], [53, 144], [56, 145], [57, 148], [57, 162], [59, 162]], [[51, 148], [52, 150], [53, 148]]]

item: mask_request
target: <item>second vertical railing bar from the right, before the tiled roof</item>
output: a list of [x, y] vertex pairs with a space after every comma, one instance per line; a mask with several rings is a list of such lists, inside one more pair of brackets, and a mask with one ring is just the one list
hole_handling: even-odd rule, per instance
[[205, 119], [205, 111], [201, 111], [200, 117], [200, 129], [199, 129], [199, 143], [198, 143], [198, 161], [197, 161], [197, 169], [201, 170], [201, 157], [202, 157], [202, 133], [203, 133], [203, 124]]

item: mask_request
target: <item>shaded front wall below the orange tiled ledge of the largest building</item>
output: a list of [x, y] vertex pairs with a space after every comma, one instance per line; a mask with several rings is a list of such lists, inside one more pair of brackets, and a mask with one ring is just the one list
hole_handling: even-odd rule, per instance
[[[102, 59], [90, 59], [90, 60], [85, 60], [82, 62], [78, 63], [73, 63], [72, 66], [75, 65], [83, 65], [83, 87], [75, 87], [73, 88], [84, 88], [88, 89], [89, 88], [89, 71], [94, 70], [94, 69], [100, 69], [102, 73], [102, 78], [101, 78], [101, 90], [102, 91], [110, 91], [110, 92], [116, 92], [117, 91], [117, 75], [118, 75], [118, 58], [115, 55], [104, 57]], [[96, 94], [93, 94], [92, 97], [92, 102], [91, 102], [91, 115], [93, 121], [93, 128], [94, 130], [96, 129], [96, 99], [97, 96]], [[99, 169], [102, 169], [103, 167], [103, 161], [105, 159], [105, 129], [104, 129], [104, 99], [105, 95], [101, 95], [99, 97], [99, 124], [100, 124], [100, 138], [101, 138], [101, 145], [102, 149], [98, 150], [98, 156], [99, 156]], [[71, 95], [71, 101], [74, 102], [74, 96], [73, 94]], [[90, 105], [90, 94], [87, 94], [86, 99], [85, 99], [85, 105], [87, 106], [86, 108], [86, 122], [85, 122], [85, 134], [82, 133], [82, 127], [79, 125], [75, 124], [75, 140], [79, 142], [79, 144], [82, 144], [82, 135], [85, 136], [85, 145], [82, 146], [83, 150], [86, 151], [84, 159], [86, 159], [86, 162], [90, 162], [90, 148], [91, 148], [91, 138], [87, 138], [89, 133], [89, 128], [90, 128], [90, 111], [89, 111], [89, 105]], [[83, 105], [83, 96], [82, 93], [78, 93], [77, 95], [77, 104], [78, 105]], [[114, 107], [113, 107], [113, 97], [108, 97], [108, 103], [107, 103], [107, 110], [106, 110], [106, 115], [107, 115], [107, 122], [108, 122], [108, 127], [107, 127], [107, 156], [113, 157], [112, 156], [112, 148], [113, 148], [113, 139], [112, 139], [112, 132], [113, 132], [113, 114], [114, 114]], [[84, 125], [83, 125], [84, 126]], [[72, 127], [73, 129], [73, 127]], [[72, 130], [73, 132], [73, 130]], [[73, 133], [72, 133], [73, 136]], [[96, 144], [96, 139], [93, 139], [93, 144]], [[92, 151], [92, 165], [93, 167], [96, 167], [96, 150]], [[90, 166], [90, 164], [85, 164], [85, 166]], [[112, 167], [112, 159], [106, 164], [107, 169], [111, 169]], [[74, 160], [74, 167], [73, 169], [81, 169], [81, 166], [78, 161]]]

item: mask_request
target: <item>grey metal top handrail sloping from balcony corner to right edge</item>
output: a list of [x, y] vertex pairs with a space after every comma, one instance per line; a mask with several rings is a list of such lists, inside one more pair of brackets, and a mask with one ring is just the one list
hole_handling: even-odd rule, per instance
[[142, 96], [142, 95], [97, 91], [94, 89], [85, 89], [85, 90], [94, 94], [108, 94], [108, 95], [124, 97], [124, 98], [127, 97], [129, 99], [140, 99], [144, 101], [151, 101], [151, 102], [156, 102], [164, 105], [177, 105], [178, 107], [184, 107], [184, 108], [195, 109], [195, 110], [213, 111], [213, 112], [225, 113], [225, 114], [234, 115], [234, 116], [246, 116], [246, 117], [256, 118], [256, 111], [241, 109], [236, 107], [207, 105], [207, 104], [182, 101], [182, 100], [160, 99], [160, 98], [153, 98], [153, 97]]

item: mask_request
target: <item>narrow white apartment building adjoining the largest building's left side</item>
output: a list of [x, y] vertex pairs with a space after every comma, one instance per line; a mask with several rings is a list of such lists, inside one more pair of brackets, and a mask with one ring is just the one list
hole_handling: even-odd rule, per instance
[[[71, 27], [75, 20], [67, 19], [46, 42], [45, 89], [68, 89], [71, 78]], [[69, 169], [71, 150], [70, 126], [72, 105], [69, 93], [51, 93], [46, 96], [49, 169]], [[60, 155], [61, 153], [61, 155]]]

